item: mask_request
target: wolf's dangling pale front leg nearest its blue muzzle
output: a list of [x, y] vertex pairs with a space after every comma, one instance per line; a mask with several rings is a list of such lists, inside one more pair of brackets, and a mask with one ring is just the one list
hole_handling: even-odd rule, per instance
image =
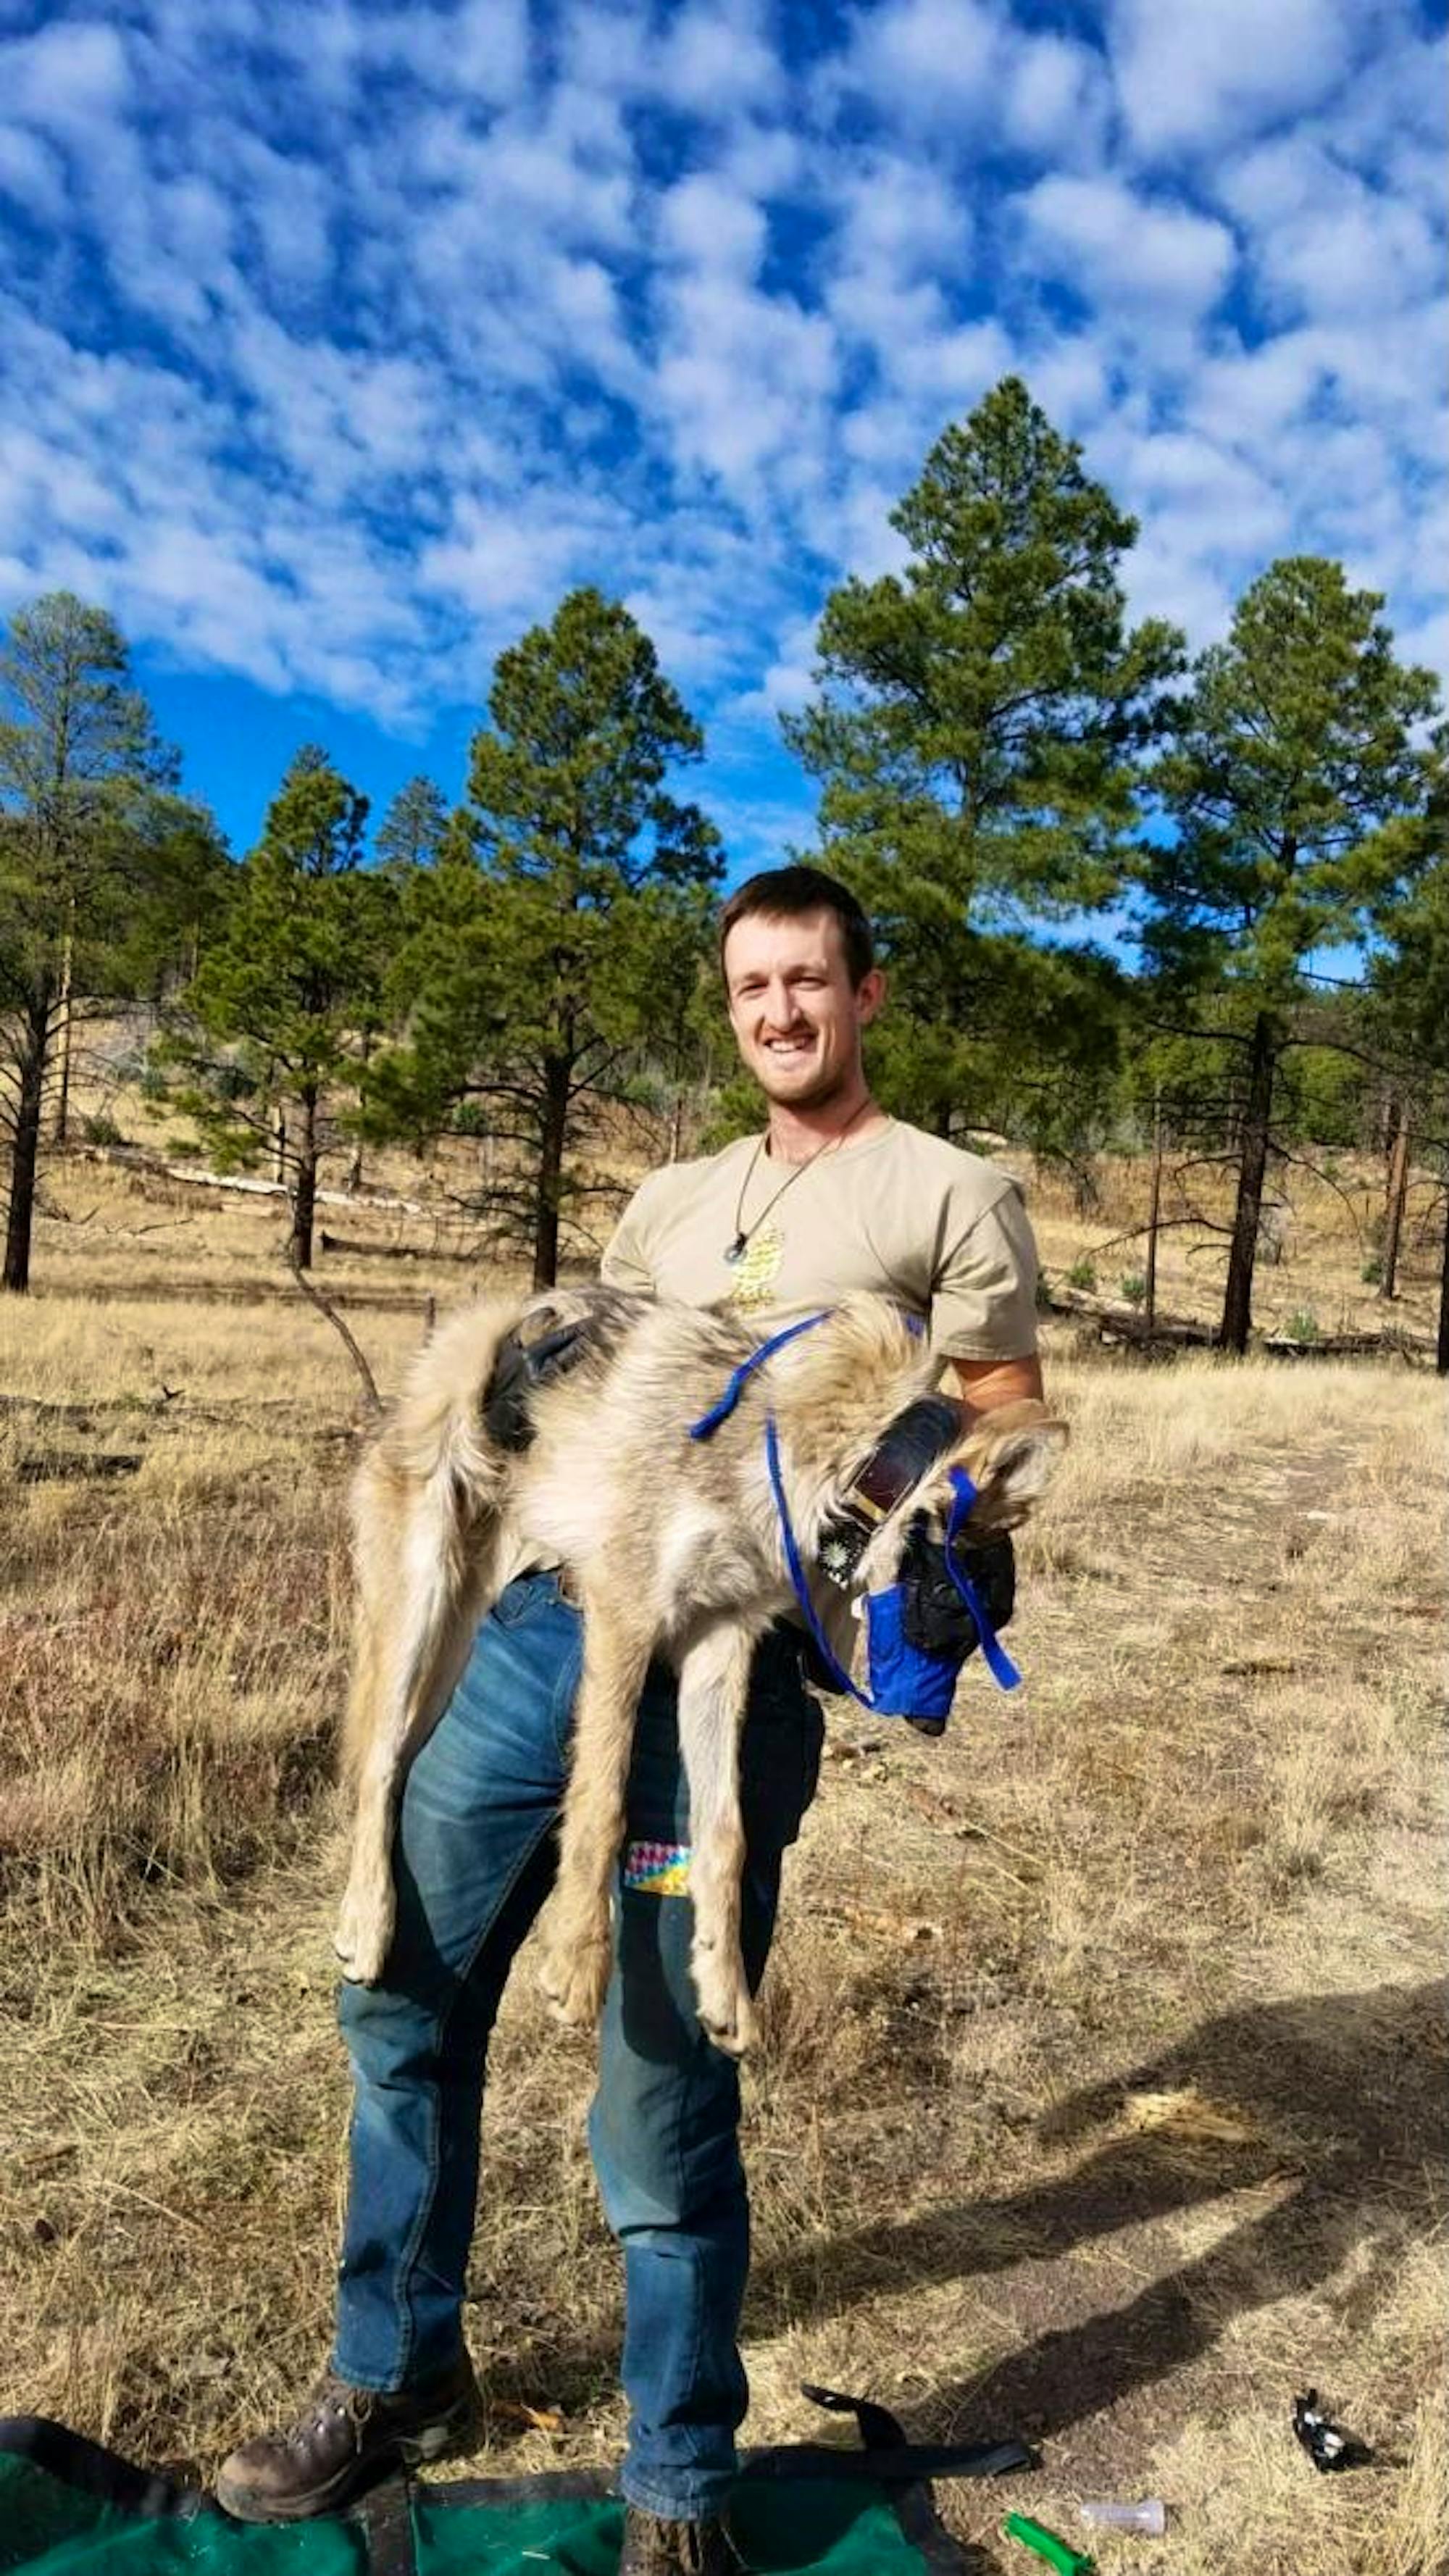
[[754, 2007], [739, 1950], [739, 1739], [754, 1636], [718, 1620], [679, 1664], [679, 1752], [690, 1780], [690, 1893], [700, 2022], [731, 2058], [754, 2045]]

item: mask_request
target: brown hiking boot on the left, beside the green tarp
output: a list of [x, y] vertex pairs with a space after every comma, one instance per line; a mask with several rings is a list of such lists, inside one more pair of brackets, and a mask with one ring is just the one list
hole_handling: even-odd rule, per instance
[[417, 2388], [353, 2388], [324, 2370], [293, 2424], [242, 2442], [216, 2470], [216, 2501], [237, 2522], [335, 2514], [394, 2468], [466, 2450], [484, 2401], [466, 2352]]

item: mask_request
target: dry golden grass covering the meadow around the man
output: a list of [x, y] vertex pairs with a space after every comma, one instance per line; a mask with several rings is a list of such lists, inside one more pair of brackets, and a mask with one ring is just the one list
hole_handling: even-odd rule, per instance
[[[0, 1309], [0, 2411], [196, 2473], [327, 2347], [355, 1388], [275, 1211], [106, 1244], [152, 1221], [134, 1177], [49, 1188], [108, 1195]], [[466, 1285], [404, 1267], [327, 1265], [383, 1381]], [[821, 2378], [1037, 2437], [1009, 2494], [942, 2488], [983, 2568], [1009, 2504], [1073, 2530], [1156, 2488], [1174, 2576], [1441, 2576], [1439, 1391], [1053, 1340], [1027, 1692], [973, 1669], [939, 1747], [831, 1713], [746, 2079], [749, 2429], [800, 2434]], [[589, 2074], [525, 1958], [471, 2267], [489, 2465], [618, 2450]], [[1315, 2478], [1307, 2383], [1385, 2465]]]

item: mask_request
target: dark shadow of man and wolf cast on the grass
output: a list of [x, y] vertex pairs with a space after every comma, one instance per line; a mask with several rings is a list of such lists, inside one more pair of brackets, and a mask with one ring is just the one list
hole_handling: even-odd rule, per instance
[[[1315, 2290], [1361, 2249], [1369, 2259], [1354, 2300], [1364, 2321], [1390, 2287], [1405, 2228], [1434, 2223], [1434, 2169], [1449, 2141], [1446, 1996], [1441, 1981], [1374, 1986], [1210, 2020], [1181, 2045], [1071, 2094], [1042, 2120], [1042, 2143], [1086, 2143], [1117, 2120], [1127, 2094], [1189, 2087], [1230, 2105], [1251, 2141], [1189, 2151], [1171, 2130], [1117, 2133], [1029, 2190], [811, 2239], [757, 2264], [749, 2316], [775, 2331], [824, 2324], [870, 2293], [1050, 2262], [1148, 2218], [1274, 2182], [1282, 2197], [1207, 2254], [1122, 2308], [1045, 2326], [991, 2370], [937, 2385], [911, 2429], [955, 2439], [1063, 2432], [1197, 2360], [1233, 2316]], [[492, 2380], [546, 2385], [571, 2403], [595, 2396], [615, 2367], [613, 2347], [589, 2339], [584, 2349], [564, 2331], [494, 2365]]]

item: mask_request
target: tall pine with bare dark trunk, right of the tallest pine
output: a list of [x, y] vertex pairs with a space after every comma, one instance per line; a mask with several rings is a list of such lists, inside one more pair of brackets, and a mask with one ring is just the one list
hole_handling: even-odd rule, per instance
[[1423, 848], [1436, 685], [1395, 659], [1382, 605], [1323, 556], [1269, 564], [1153, 768], [1171, 840], [1138, 863], [1148, 969], [1168, 1005], [1228, 992], [1210, 1043], [1228, 1033], [1243, 1059], [1223, 1350], [1248, 1347], [1279, 1066], [1315, 1043], [1295, 1033], [1310, 958], [1387, 922]]

